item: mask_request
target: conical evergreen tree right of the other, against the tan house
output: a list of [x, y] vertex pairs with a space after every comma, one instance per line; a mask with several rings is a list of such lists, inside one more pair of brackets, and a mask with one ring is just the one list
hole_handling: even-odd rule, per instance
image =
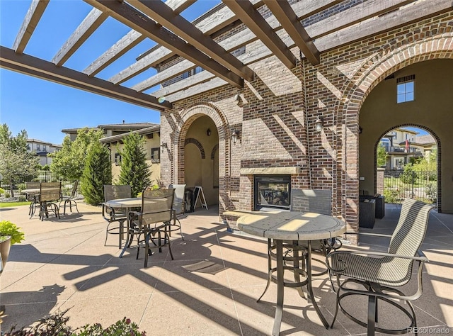
[[120, 184], [129, 184], [132, 197], [137, 196], [151, 184], [151, 171], [146, 162], [144, 138], [137, 133], [130, 133], [123, 138], [124, 147], [118, 150], [121, 155]]

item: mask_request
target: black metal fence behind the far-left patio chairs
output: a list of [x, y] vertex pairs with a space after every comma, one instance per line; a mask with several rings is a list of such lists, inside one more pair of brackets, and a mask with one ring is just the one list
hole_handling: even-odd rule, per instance
[[55, 174], [53, 172], [47, 170], [41, 170], [35, 176], [25, 176], [25, 175], [16, 175], [13, 178], [13, 184], [5, 183], [5, 181], [0, 181], [1, 189], [4, 189], [5, 194], [3, 195], [5, 198], [25, 198], [21, 192], [23, 189], [26, 189], [25, 182], [32, 182], [32, 181], [39, 181], [39, 182], [62, 182], [62, 193], [63, 195], [67, 196], [71, 194], [72, 184], [74, 181], [68, 181], [67, 179], [63, 179], [59, 174]]

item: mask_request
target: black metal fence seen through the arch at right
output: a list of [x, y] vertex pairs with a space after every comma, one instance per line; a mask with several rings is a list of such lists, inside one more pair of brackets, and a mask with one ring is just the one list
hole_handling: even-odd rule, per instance
[[404, 198], [414, 198], [426, 203], [437, 201], [437, 172], [384, 172], [386, 203], [402, 203]]

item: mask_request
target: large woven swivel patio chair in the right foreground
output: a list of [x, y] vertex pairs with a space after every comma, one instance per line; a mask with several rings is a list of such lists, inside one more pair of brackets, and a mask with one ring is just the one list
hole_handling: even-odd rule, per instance
[[[331, 280], [336, 280], [336, 286], [338, 286], [337, 289], [333, 287], [337, 297], [336, 312], [331, 327], [335, 323], [339, 307], [348, 318], [362, 325], [362, 327], [367, 327], [367, 335], [374, 335], [374, 332], [403, 334], [414, 330], [417, 322], [411, 301], [419, 298], [423, 291], [422, 270], [423, 264], [428, 262], [428, 258], [420, 251], [420, 246], [425, 237], [428, 217], [432, 208], [428, 204], [407, 198], [403, 201], [401, 215], [392, 235], [353, 233], [390, 237], [387, 252], [334, 251], [327, 255], [326, 262], [329, 276]], [[397, 288], [411, 280], [413, 262], [415, 261], [418, 262], [418, 289], [412, 295], [406, 295]], [[357, 286], [357, 284], [361, 286]], [[362, 286], [363, 289], [361, 289]], [[348, 313], [342, 306], [343, 298], [351, 295], [368, 298], [366, 321]], [[400, 310], [409, 318], [411, 325], [399, 330], [377, 327], [379, 301], [389, 303]], [[389, 313], [389, 307], [386, 308], [386, 311]]]

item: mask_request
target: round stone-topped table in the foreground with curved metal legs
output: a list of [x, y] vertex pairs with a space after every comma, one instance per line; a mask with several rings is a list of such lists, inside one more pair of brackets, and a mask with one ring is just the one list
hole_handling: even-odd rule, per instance
[[[311, 284], [311, 241], [322, 240], [332, 237], [337, 237], [346, 232], [346, 225], [342, 220], [331, 217], [329, 215], [321, 215], [319, 213], [295, 212], [295, 211], [269, 211], [249, 213], [238, 218], [236, 222], [239, 230], [250, 235], [268, 238], [275, 241], [276, 245], [276, 262], [277, 262], [277, 306], [275, 309], [275, 319], [273, 326], [273, 334], [279, 335], [280, 325], [282, 323], [283, 313], [283, 293], [285, 284], [283, 264], [283, 245], [284, 241], [308, 241], [306, 270], [298, 272], [294, 271], [294, 280], [298, 282], [299, 274], [306, 273], [306, 281], [301, 282], [301, 285], [306, 284], [307, 292], [311, 303], [321, 319], [324, 327], [328, 329], [326, 318], [319, 310], [319, 307], [314, 299], [313, 288]], [[268, 244], [270, 249], [270, 244]], [[271, 253], [269, 250], [268, 253]], [[298, 267], [298, 265], [297, 265]]]

